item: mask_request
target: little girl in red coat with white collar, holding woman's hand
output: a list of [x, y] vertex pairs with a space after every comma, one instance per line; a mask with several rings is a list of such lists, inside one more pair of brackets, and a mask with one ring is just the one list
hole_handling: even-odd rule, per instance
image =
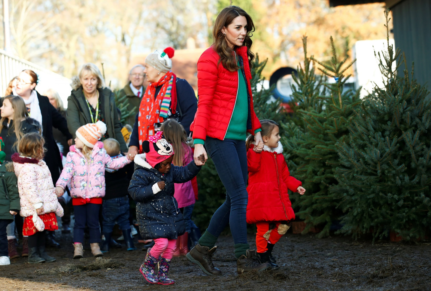
[[272, 257], [274, 244], [289, 229], [295, 219], [287, 189], [305, 193], [302, 183], [290, 176], [284, 160], [278, 124], [272, 120], [260, 121], [262, 125], [263, 151], [253, 151], [254, 136], [247, 138], [248, 204], [247, 223], [256, 223], [257, 256], [261, 263], [270, 263], [278, 269]]

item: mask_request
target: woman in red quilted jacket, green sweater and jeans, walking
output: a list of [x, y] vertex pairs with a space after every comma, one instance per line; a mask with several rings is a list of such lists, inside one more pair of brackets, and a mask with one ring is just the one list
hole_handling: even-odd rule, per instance
[[[214, 43], [200, 56], [197, 63], [199, 101], [190, 130], [194, 138], [194, 161], [206, 151], [215, 164], [225, 186], [226, 201], [215, 211], [208, 229], [198, 244], [187, 254], [209, 275], [220, 275], [212, 264], [215, 242], [227, 224], [230, 224], [237, 257], [237, 272], [269, 268], [255, 259], [247, 243], [247, 132], [256, 139], [255, 150], [263, 149], [260, 123], [253, 109], [250, 87], [250, 65], [254, 55], [250, 51], [254, 31], [250, 15], [237, 6], [220, 12], [214, 23]], [[204, 148], [205, 145], [205, 148]]]

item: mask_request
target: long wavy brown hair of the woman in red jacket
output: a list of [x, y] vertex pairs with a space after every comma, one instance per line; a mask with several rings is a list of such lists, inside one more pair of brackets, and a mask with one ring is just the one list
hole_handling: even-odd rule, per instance
[[[215, 19], [214, 27], [212, 28], [212, 39], [214, 40], [212, 46], [215, 52], [220, 56], [219, 62], [222, 63], [226, 70], [231, 72], [238, 70], [237, 60], [235, 59], [234, 51], [228, 46], [226, 37], [222, 33], [222, 28], [228, 27], [238, 16], [244, 16], [247, 19], [247, 34], [244, 37], [244, 46], [247, 46], [248, 62], [251, 68], [253, 65], [254, 53], [250, 50], [251, 44], [253, 43], [250, 37], [253, 36], [251, 33], [254, 31], [254, 24], [250, 15], [238, 6], [228, 6], [219, 13], [217, 19]], [[244, 62], [245, 61], [246, 60], [244, 60]]]

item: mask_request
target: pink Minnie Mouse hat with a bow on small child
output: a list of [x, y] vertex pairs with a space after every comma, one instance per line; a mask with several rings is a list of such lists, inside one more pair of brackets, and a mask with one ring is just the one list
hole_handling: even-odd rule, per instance
[[172, 145], [162, 134], [163, 132], [159, 131], [142, 143], [142, 150], [146, 153], [145, 159], [151, 167], [170, 158], [174, 154]]

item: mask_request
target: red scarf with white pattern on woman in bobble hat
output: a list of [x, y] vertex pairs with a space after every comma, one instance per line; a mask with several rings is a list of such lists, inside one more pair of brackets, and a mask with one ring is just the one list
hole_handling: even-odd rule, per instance
[[[139, 136], [139, 152], [142, 153], [142, 142], [148, 139], [148, 136], [154, 135], [154, 124], [163, 121], [160, 116], [160, 105], [162, 104], [163, 97], [166, 95], [166, 90], [168, 90], [169, 81], [174, 78], [172, 84], [172, 100], [171, 100], [171, 110], [172, 114], [175, 114], [176, 107], [176, 88], [175, 81], [176, 76], [172, 71], [166, 73], [165, 76], [160, 78], [158, 82], [150, 83], [142, 96], [141, 105], [139, 105], [139, 115], [138, 121], [138, 136]], [[154, 95], [156, 94], [156, 88], [162, 85], [159, 94], [157, 94], [156, 99]]]

